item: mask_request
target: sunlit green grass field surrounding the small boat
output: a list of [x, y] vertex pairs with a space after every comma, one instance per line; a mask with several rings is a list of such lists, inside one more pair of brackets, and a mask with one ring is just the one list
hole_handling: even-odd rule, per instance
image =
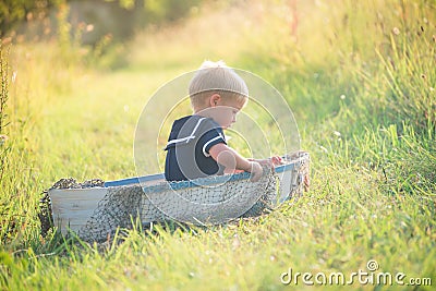
[[[434, 289], [435, 2], [238, 3], [138, 33], [100, 59], [55, 40], [14, 44], [9, 54], [2, 46], [0, 290], [313, 288], [303, 275], [283, 284], [290, 268], [331, 290]], [[135, 175], [142, 108], [205, 59], [249, 70], [286, 97], [311, 153], [310, 192], [208, 229], [134, 229], [104, 245], [43, 238], [40, 193], [61, 178]], [[319, 274], [348, 280], [370, 260], [374, 274], [404, 274], [404, 284], [317, 282]]]

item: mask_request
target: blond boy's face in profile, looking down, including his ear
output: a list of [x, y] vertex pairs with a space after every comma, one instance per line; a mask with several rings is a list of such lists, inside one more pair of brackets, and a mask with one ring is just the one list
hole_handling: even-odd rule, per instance
[[[217, 95], [219, 96], [219, 95]], [[210, 107], [201, 112], [202, 116], [207, 116], [214, 119], [222, 129], [230, 128], [237, 122], [237, 116], [245, 106], [246, 99], [243, 101], [237, 98], [211, 98]]]

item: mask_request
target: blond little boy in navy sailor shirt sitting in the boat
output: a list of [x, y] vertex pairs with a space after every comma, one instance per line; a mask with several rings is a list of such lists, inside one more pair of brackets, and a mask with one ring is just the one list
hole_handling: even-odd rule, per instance
[[278, 157], [249, 160], [227, 146], [222, 130], [237, 121], [249, 100], [249, 89], [222, 61], [205, 61], [191, 80], [189, 93], [194, 113], [172, 124], [165, 148], [167, 181], [247, 171], [255, 182], [263, 174], [261, 163], [272, 167], [280, 162]]

